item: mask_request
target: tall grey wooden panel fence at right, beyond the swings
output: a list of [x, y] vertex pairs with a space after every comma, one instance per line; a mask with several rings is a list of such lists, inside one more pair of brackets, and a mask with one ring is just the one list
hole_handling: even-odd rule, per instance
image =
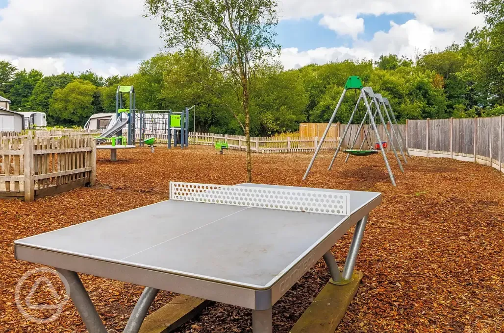
[[504, 172], [504, 115], [408, 120], [406, 126], [412, 155], [471, 161]]

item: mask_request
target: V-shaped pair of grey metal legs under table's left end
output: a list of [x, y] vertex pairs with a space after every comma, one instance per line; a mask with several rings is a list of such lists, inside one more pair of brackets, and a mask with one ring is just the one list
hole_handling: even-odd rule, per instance
[[[89, 333], [107, 333], [107, 329], [101, 321], [96, 308], [89, 298], [89, 294], [84, 288], [79, 275], [76, 272], [67, 271], [63, 269], [56, 269], [61, 275], [61, 281], [64, 282], [70, 298], [74, 302], [77, 311], [81, 315], [82, 321]], [[154, 298], [156, 298], [158, 289], [146, 287], [138, 299], [137, 305], [133, 309], [128, 324], [124, 328], [123, 333], [138, 333], [142, 322], [147, 315], [147, 311], [151, 306]], [[271, 333], [271, 331], [269, 332]]]

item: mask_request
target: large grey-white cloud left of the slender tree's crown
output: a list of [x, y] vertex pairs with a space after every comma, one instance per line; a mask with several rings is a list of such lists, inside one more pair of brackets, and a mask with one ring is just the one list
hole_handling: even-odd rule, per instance
[[157, 23], [143, 14], [138, 0], [10, 1], [0, 9], [0, 54], [45, 74], [106, 74], [111, 66], [131, 73], [163, 45]]

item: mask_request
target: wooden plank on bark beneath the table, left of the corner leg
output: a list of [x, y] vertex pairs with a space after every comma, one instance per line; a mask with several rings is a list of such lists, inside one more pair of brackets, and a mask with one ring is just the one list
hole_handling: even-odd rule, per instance
[[179, 295], [168, 304], [148, 315], [139, 333], [169, 333], [193, 319], [210, 301]]

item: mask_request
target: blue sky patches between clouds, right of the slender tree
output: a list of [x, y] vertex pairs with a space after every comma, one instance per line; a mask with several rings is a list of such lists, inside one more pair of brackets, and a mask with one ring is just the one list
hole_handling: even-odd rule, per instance
[[[0, 0], [2, 1], [2, 0]], [[312, 19], [290, 19], [280, 21], [276, 28], [277, 42], [282, 47], [297, 47], [299, 51], [307, 51], [318, 47], [352, 47], [350, 36], [338, 35], [335, 31], [319, 24], [323, 15]], [[364, 19], [364, 33], [359, 35], [361, 40], [369, 41], [377, 31], [388, 32], [390, 21], [404, 24], [415, 18], [412, 13], [398, 13], [392, 15], [359, 15]]]

